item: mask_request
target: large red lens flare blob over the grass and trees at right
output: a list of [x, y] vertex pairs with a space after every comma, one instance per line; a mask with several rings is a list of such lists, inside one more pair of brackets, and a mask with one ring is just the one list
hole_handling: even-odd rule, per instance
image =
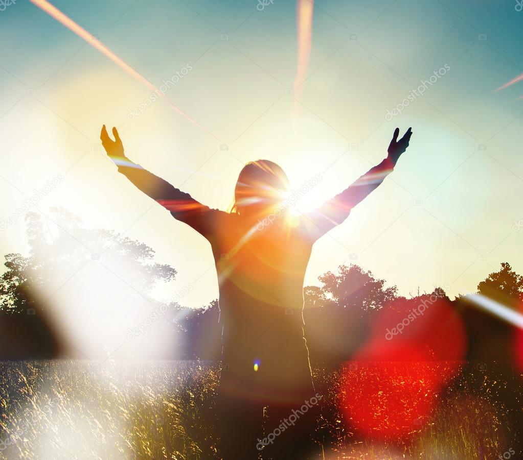
[[372, 335], [346, 362], [338, 404], [367, 437], [408, 440], [433, 415], [466, 350], [460, 316], [446, 299], [399, 299], [378, 315]]

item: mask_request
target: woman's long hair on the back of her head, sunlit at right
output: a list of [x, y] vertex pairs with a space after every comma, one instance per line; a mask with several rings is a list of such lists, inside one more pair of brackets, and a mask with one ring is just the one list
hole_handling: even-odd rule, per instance
[[289, 190], [287, 174], [269, 160], [248, 162], [238, 175], [231, 213], [242, 214], [249, 207], [275, 205]]

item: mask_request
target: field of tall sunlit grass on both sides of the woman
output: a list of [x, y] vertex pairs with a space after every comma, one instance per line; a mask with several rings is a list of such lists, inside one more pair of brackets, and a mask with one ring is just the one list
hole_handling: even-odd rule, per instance
[[[367, 384], [381, 384], [376, 369], [359, 365], [351, 372]], [[502, 402], [507, 382], [481, 370], [462, 372], [433, 395], [430, 416], [415, 420], [412, 429], [381, 438], [386, 420], [376, 406], [369, 403], [368, 415], [377, 431], [362, 431], [358, 420], [338, 411], [346, 388], [340, 374], [319, 369], [314, 374], [326, 397], [313, 437], [326, 459], [493, 459], [516, 448], [511, 414], [521, 411], [520, 400], [513, 395], [507, 407]], [[220, 458], [212, 435], [218, 378], [218, 367], [206, 362], [0, 363], [0, 459]], [[415, 397], [413, 388], [421, 390]], [[365, 385], [357, 390], [365, 393]], [[424, 382], [400, 374], [378, 390], [381, 405], [394, 400], [397, 410], [400, 401], [405, 414], [417, 398], [430, 396]], [[403, 402], [397, 397], [402, 394]]]

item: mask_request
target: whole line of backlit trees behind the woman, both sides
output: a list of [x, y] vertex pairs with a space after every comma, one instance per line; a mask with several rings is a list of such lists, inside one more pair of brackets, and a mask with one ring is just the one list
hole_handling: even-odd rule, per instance
[[[5, 255], [6, 270], [0, 276], [1, 358], [81, 357], [74, 350], [89, 337], [78, 339], [82, 331], [68, 337], [56, 321], [57, 315], [74, 312], [72, 324], [87, 325], [98, 317], [97, 337], [122, 333], [105, 344], [109, 349], [127, 337], [140, 358], [219, 359], [217, 300], [200, 309], [185, 308], [179, 297], [156, 302], [154, 287], [174, 280], [177, 272], [154, 263], [151, 247], [113, 231], [86, 228], [62, 208], [54, 209], [50, 219], [51, 225], [40, 214], [28, 213], [29, 253]], [[517, 311], [523, 302], [523, 276], [502, 263], [479, 282], [476, 293]], [[431, 349], [427, 356], [435, 359], [495, 360], [507, 366], [518, 359], [514, 343], [519, 333], [513, 326], [477, 308], [469, 296], [449, 299], [444, 287], [406, 298], [371, 271], [351, 264], [323, 274], [319, 285], [305, 287], [304, 299], [305, 337], [314, 365], [354, 358], [373, 337], [387, 350], [410, 340], [418, 348]], [[104, 323], [112, 329], [104, 329]], [[135, 331], [131, 338], [130, 331]], [[466, 342], [463, 347], [458, 344], [460, 335]], [[163, 337], [162, 346], [144, 347], [153, 337]], [[438, 355], [438, 337], [441, 343], [454, 340], [454, 349], [463, 348], [461, 354]], [[100, 348], [93, 348], [88, 358], [105, 352], [104, 340], [99, 341]]]

